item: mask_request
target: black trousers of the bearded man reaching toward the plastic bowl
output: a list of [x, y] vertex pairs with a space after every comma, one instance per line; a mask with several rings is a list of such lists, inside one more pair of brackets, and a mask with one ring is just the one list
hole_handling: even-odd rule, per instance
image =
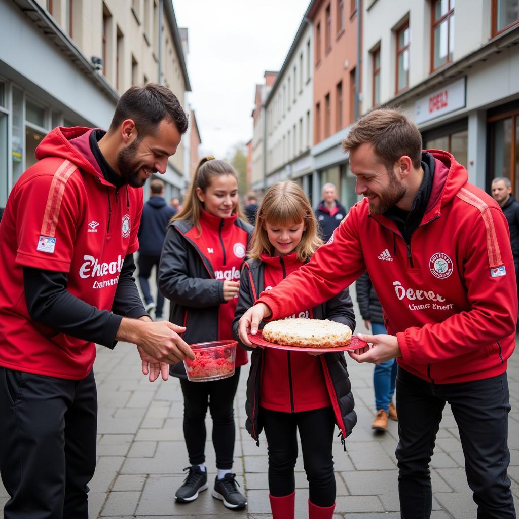
[[4, 519], [88, 519], [95, 470], [97, 390], [81, 380], [0, 367]]

